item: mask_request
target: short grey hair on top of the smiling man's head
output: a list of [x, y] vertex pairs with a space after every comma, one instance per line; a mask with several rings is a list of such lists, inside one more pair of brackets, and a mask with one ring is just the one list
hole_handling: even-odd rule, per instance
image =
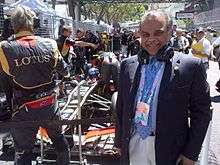
[[165, 11], [163, 10], [151, 10], [151, 11], [147, 11], [144, 16], [141, 18], [141, 22], [140, 22], [140, 25], [145, 21], [145, 20], [148, 20], [148, 19], [154, 19], [156, 18], [157, 16], [164, 16], [165, 19], [166, 19], [166, 25], [167, 25], [167, 31], [168, 30], [171, 30], [172, 27], [173, 27], [173, 20], [172, 18], [170, 17], [169, 14], [167, 14]]

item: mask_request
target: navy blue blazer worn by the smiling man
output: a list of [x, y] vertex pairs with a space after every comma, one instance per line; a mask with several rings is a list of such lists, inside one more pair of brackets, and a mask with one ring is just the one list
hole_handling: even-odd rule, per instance
[[[135, 97], [141, 77], [137, 56], [121, 63], [115, 146], [121, 149], [121, 164], [129, 165], [129, 140], [135, 116]], [[175, 165], [180, 154], [196, 161], [209, 121], [209, 85], [202, 61], [177, 53], [165, 64], [156, 116], [157, 165]], [[190, 116], [190, 125], [188, 117]]]

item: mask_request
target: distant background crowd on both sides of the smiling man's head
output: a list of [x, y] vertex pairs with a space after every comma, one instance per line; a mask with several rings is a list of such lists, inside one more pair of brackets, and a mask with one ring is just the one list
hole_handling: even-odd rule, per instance
[[[62, 26], [65, 27], [65, 23]], [[174, 25], [172, 30], [172, 37], [169, 40], [169, 44], [174, 51], [201, 58], [206, 70], [209, 68], [208, 61], [210, 59], [220, 61], [220, 37], [218, 37], [218, 32], [211, 27], [198, 27], [195, 30], [187, 31]], [[72, 29], [70, 31], [72, 32]], [[61, 38], [58, 40], [62, 40], [63, 34], [61, 32], [60, 36]], [[78, 29], [74, 40], [92, 44], [84, 48], [74, 48], [73, 54], [76, 59], [73, 61], [81, 61], [73, 65], [77, 68], [76, 73], [81, 73], [83, 68], [85, 68], [85, 63], [90, 63], [97, 57], [100, 51], [111, 51], [121, 61], [123, 58], [137, 55], [141, 49], [139, 31], [133, 32], [120, 28], [115, 28], [111, 33], [93, 33], [90, 30], [83, 31], [82, 29]]]

